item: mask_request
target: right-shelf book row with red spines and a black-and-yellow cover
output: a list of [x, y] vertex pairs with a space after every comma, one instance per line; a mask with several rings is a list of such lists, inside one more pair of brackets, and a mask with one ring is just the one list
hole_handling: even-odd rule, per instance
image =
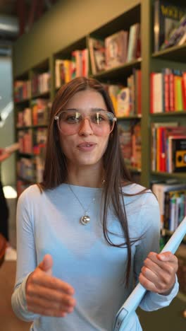
[[178, 122], [151, 124], [151, 170], [181, 173], [186, 170], [186, 127]]

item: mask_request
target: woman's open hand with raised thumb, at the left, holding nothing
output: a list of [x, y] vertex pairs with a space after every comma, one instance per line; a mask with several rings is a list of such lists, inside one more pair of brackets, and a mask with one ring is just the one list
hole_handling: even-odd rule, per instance
[[75, 306], [74, 289], [65, 281], [52, 276], [53, 260], [47, 254], [27, 278], [27, 309], [39, 315], [64, 317]]

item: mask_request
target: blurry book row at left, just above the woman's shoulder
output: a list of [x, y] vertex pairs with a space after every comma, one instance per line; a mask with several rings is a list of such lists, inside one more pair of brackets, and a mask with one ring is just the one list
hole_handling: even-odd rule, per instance
[[[18, 177], [29, 182], [42, 182], [44, 161], [36, 156], [34, 159], [20, 158], [17, 162]], [[19, 183], [20, 184], [20, 183]], [[27, 187], [28, 185], [26, 185]], [[20, 192], [21, 188], [18, 187]]]

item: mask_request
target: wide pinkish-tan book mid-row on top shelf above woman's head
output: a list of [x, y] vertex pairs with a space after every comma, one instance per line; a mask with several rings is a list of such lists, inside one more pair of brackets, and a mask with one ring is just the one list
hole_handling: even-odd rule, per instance
[[106, 69], [120, 66], [127, 61], [128, 31], [120, 30], [105, 38]]

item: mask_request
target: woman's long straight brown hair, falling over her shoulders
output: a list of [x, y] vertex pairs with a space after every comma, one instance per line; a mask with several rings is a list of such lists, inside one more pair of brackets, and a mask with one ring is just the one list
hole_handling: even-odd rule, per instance
[[[92, 89], [97, 91], [102, 95], [106, 103], [109, 112], [113, 112], [113, 104], [109, 93], [106, 92], [99, 81], [96, 79], [87, 79], [85, 77], [80, 77], [73, 79], [69, 83], [63, 85], [58, 93], [51, 108], [48, 138], [46, 146], [46, 159], [44, 164], [44, 176], [41, 187], [43, 190], [53, 189], [63, 182], [67, 182], [68, 170], [66, 165], [66, 156], [61, 151], [61, 145], [58, 139], [58, 127], [54, 117], [58, 112], [64, 108], [68, 100], [79, 91], [86, 91], [87, 89]], [[123, 193], [123, 185], [128, 185], [131, 183], [130, 173], [125, 166], [123, 156], [120, 150], [119, 137], [118, 137], [118, 127], [117, 124], [111, 132], [109, 139], [109, 144], [104, 153], [104, 206], [103, 206], [103, 231], [104, 238], [106, 241], [114, 246], [120, 248], [127, 248], [128, 250], [128, 263], [127, 263], [127, 273], [125, 284], [128, 284], [130, 276], [131, 267], [131, 245], [137, 238], [130, 238], [128, 231], [128, 221], [125, 212], [125, 204], [121, 196], [126, 195]], [[107, 227], [107, 214], [109, 207], [113, 207], [114, 214], [116, 214], [123, 231], [123, 243], [119, 245], [114, 244], [109, 236], [109, 230]]]

